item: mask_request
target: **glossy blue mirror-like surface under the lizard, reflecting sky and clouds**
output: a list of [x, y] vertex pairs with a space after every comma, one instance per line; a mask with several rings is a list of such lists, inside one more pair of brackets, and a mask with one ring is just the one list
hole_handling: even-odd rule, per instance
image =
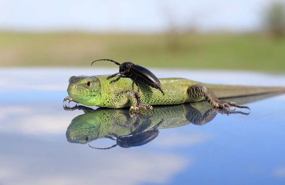
[[[69, 77], [113, 74], [117, 70], [95, 67], [1, 69], [0, 184], [284, 184], [284, 94], [235, 99], [251, 108], [249, 115], [246, 115], [247, 109], [235, 110], [245, 114], [227, 115], [221, 110], [220, 113], [211, 112], [213, 109], [207, 102], [154, 107], [157, 115], [151, 118], [131, 118], [125, 109], [105, 110], [104, 115], [123, 115], [113, 122], [113, 125], [117, 122], [117, 130], [98, 132], [100, 137], [95, 135], [93, 140], [89, 136], [87, 144], [78, 144], [80, 142], [72, 136], [76, 133], [72, 120], [80, 116], [90, 117], [100, 109], [89, 109], [90, 113], [85, 108], [64, 110], [62, 101], [67, 96]], [[151, 71], [162, 78], [285, 86], [285, 75], [282, 74]], [[217, 73], [225, 76], [216, 76]], [[75, 104], [71, 103], [71, 106]], [[188, 119], [191, 112], [207, 118], [207, 121], [193, 124], [197, 122]], [[100, 119], [100, 128], [107, 128], [110, 122], [103, 124]], [[140, 124], [136, 128], [133, 123], [138, 119]], [[120, 120], [121, 124], [118, 123]], [[85, 133], [88, 131], [86, 124]], [[121, 128], [125, 131], [120, 131]], [[139, 135], [148, 130], [152, 132]], [[118, 135], [120, 132], [123, 136]], [[99, 150], [88, 146], [111, 147], [118, 143], [119, 137], [126, 136], [129, 136], [129, 144], [137, 141], [135, 144], [138, 145], [140, 138], [133, 139], [134, 133], [146, 138], [151, 138], [152, 134], [156, 136], [141, 146], [129, 148], [117, 146]]]

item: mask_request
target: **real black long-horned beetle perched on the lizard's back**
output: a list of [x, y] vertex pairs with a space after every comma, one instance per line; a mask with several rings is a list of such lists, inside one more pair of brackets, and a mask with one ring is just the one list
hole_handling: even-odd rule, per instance
[[114, 61], [114, 60], [111, 60], [111, 59], [99, 59], [99, 60], [95, 60], [91, 63], [91, 65], [96, 62], [96, 61], [111, 61], [117, 65], [120, 66], [119, 68], [119, 72], [111, 75], [111, 76], [108, 76], [107, 79], [110, 79], [110, 78], [113, 78], [114, 76], [116, 76], [117, 74], [120, 74], [118, 76], [118, 78], [116, 78], [115, 80], [112, 80], [110, 82], [113, 83], [113, 82], [116, 82], [118, 81], [122, 75], [125, 75], [125, 76], [128, 76], [128, 77], [131, 77], [135, 80], [135, 83], [136, 85], [138, 86], [138, 92], [139, 92], [139, 83], [137, 80], [142, 80], [144, 83], [146, 83], [147, 85], [149, 85], [150, 87], [153, 87], [153, 88], [156, 88], [156, 89], [159, 89], [163, 95], [164, 95], [164, 92], [163, 90], [161, 89], [161, 84], [160, 84], [160, 81], [158, 80], [158, 78], [152, 73], [150, 72], [150, 70], [142, 67], [142, 66], [139, 66], [139, 65], [136, 65], [132, 62], [124, 62], [122, 64]]

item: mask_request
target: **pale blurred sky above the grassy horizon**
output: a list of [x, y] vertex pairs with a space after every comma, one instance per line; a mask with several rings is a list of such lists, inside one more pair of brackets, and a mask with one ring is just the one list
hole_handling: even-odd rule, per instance
[[255, 31], [272, 1], [0, 0], [0, 31]]

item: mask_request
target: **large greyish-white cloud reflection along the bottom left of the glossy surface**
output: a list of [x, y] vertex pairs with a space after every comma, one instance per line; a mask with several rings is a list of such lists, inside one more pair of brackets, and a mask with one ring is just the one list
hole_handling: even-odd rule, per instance
[[[89, 149], [89, 148], [88, 148]], [[48, 149], [43, 149], [48, 152]], [[68, 150], [65, 146], [62, 151]], [[191, 159], [179, 155], [143, 152], [132, 150], [125, 152], [94, 153], [88, 150], [73, 150], [70, 156], [82, 156], [79, 161], [70, 161], [70, 157], [63, 159], [62, 151], [48, 156], [22, 157], [23, 161], [13, 161], [12, 157], [0, 158], [0, 181], [4, 184], [142, 184], [166, 183], [191, 164]], [[86, 151], [85, 151], [86, 152]], [[50, 158], [50, 159], [49, 159]], [[52, 158], [52, 159], [51, 159]], [[37, 162], [37, 161], [41, 162]], [[46, 161], [46, 162], [43, 162]], [[27, 168], [25, 163], [33, 164]], [[58, 166], [61, 164], [61, 166]], [[5, 170], [9, 169], [9, 170]]]

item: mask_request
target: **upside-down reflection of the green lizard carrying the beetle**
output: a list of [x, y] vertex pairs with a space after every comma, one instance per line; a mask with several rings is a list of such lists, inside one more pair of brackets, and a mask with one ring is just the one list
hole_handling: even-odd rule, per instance
[[[196, 104], [196, 108], [192, 107]], [[86, 144], [100, 138], [116, 138], [121, 147], [133, 147], [146, 144], [158, 136], [158, 130], [187, 124], [204, 125], [221, 114], [244, 114], [228, 109], [215, 109], [207, 102], [188, 103], [172, 106], [157, 106], [155, 113], [146, 116], [140, 113], [130, 114], [127, 109], [91, 109], [82, 105], [67, 111], [83, 110], [84, 114], [72, 119], [66, 130], [66, 138], [71, 143]], [[130, 137], [125, 137], [130, 136]], [[113, 145], [115, 147], [116, 145]], [[105, 148], [109, 149], [109, 148]]]

